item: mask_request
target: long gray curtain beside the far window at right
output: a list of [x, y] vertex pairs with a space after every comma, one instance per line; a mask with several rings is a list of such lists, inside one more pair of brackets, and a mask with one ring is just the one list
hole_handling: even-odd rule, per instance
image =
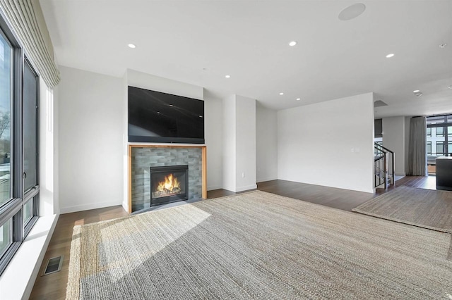
[[425, 117], [411, 118], [408, 175], [427, 175], [427, 123]]

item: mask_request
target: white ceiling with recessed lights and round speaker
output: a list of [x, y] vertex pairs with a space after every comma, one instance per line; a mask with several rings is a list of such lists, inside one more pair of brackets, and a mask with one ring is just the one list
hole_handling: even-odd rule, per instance
[[375, 92], [388, 104], [376, 117], [452, 113], [452, 0], [363, 0], [339, 20], [355, 3], [40, 0], [60, 65], [130, 68], [278, 110]]

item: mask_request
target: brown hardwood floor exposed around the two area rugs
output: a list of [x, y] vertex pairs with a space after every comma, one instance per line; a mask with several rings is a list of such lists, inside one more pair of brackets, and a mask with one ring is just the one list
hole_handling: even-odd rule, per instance
[[[435, 177], [405, 176], [396, 182], [396, 187], [405, 185], [408, 187], [420, 187], [424, 189], [435, 189]], [[394, 187], [391, 187], [393, 189]], [[378, 196], [387, 191], [378, 189], [375, 194], [355, 192], [347, 189], [335, 189], [333, 187], [323, 187], [319, 185], [307, 185], [299, 182], [285, 180], [272, 180], [258, 183], [258, 189], [263, 192], [270, 192], [287, 196], [302, 201], [339, 208], [351, 211], [359, 204]], [[391, 190], [388, 189], [388, 190]], [[208, 199], [220, 196], [230, 196], [236, 194], [225, 189], [216, 189], [208, 192]], [[49, 258], [64, 255], [63, 266], [60, 272], [46, 276], [38, 275], [35, 286], [32, 289], [30, 299], [65, 299], [66, 285], [69, 273], [69, 254], [71, 249], [73, 226], [95, 223], [100, 220], [109, 220], [128, 215], [121, 206], [93, 209], [90, 211], [80, 211], [77, 213], [66, 213], [59, 216], [57, 227], [54, 230], [49, 247], [44, 256], [40, 275]]]

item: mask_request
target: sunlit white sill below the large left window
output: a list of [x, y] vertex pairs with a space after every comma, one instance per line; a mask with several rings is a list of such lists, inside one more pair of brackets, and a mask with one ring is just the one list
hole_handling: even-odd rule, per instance
[[58, 215], [46, 215], [32, 227], [0, 277], [1, 299], [28, 299], [57, 220]]

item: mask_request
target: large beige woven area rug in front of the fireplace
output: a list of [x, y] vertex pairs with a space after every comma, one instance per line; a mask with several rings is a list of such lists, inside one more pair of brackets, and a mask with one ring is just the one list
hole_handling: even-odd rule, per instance
[[66, 299], [448, 299], [450, 240], [250, 192], [74, 227]]

